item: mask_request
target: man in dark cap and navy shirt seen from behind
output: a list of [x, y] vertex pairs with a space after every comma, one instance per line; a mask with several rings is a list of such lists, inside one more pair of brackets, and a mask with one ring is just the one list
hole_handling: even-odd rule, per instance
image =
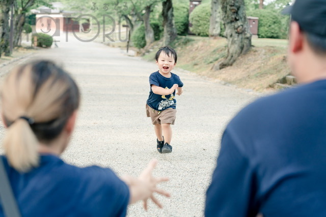
[[289, 10], [300, 85], [261, 98], [226, 127], [205, 216], [326, 216], [326, 0]]

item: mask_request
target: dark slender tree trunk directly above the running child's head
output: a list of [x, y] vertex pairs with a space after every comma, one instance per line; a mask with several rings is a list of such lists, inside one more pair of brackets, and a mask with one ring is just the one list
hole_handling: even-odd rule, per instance
[[164, 26], [164, 45], [170, 45], [177, 38], [177, 29], [173, 19], [172, 0], [166, 0], [162, 3], [162, 15]]

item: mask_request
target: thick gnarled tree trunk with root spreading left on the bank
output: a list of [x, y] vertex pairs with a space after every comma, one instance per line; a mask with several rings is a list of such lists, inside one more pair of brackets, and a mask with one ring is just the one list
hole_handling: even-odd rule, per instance
[[222, 0], [221, 3], [225, 35], [228, 40], [228, 54], [222, 63], [214, 66], [215, 70], [232, 66], [241, 54], [247, 53], [251, 47], [252, 36], [244, 11], [244, 1]]

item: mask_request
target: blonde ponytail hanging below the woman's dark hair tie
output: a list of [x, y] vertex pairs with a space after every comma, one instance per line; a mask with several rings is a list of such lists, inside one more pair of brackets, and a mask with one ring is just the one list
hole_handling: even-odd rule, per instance
[[8, 128], [3, 146], [12, 167], [20, 172], [27, 172], [39, 165], [39, 142], [28, 121], [17, 119]]

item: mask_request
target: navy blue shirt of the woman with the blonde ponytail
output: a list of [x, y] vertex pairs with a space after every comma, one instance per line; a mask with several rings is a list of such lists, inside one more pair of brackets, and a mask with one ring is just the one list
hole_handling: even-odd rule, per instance
[[[108, 168], [79, 168], [52, 155], [19, 173], [4, 161], [21, 216], [125, 216], [129, 189]], [[4, 216], [0, 200], [0, 216]]]

